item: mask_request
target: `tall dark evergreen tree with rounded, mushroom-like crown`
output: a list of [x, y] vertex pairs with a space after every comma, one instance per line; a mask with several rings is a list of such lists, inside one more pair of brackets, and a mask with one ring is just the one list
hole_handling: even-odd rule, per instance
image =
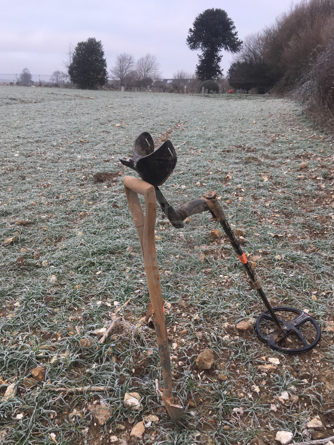
[[193, 28], [189, 29], [187, 45], [192, 51], [203, 51], [196, 65], [198, 79], [204, 81], [222, 75], [220, 51], [225, 49], [236, 53], [242, 44], [235, 29], [233, 21], [223, 9], [206, 9], [196, 17]]

